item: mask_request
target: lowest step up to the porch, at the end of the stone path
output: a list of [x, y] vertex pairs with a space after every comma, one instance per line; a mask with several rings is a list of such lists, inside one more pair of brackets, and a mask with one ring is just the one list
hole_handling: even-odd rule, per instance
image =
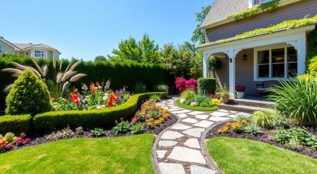
[[254, 111], [258, 110], [270, 110], [274, 111], [274, 109], [268, 109], [268, 108], [260, 108], [260, 107], [255, 107], [255, 106], [244, 106], [244, 105], [237, 105], [237, 104], [218, 104], [219, 109], [226, 109], [226, 110], [232, 110], [232, 111], [237, 111], [237, 112], [245, 112], [252, 114]]

